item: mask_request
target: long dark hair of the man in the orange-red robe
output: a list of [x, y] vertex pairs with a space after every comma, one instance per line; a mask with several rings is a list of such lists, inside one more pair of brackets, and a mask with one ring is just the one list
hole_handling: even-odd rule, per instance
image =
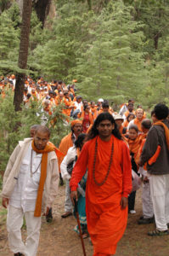
[[97, 135], [99, 135], [99, 131], [98, 131], [97, 127], [98, 127], [99, 123], [101, 123], [104, 120], [109, 120], [112, 125], [115, 125], [115, 129], [112, 130], [112, 134], [116, 138], [121, 140], [121, 133], [117, 129], [117, 125], [115, 124], [115, 119], [113, 118], [113, 116], [110, 113], [100, 113], [99, 116], [97, 117], [97, 119], [95, 119], [92, 129], [89, 131], [89, 133], [87, 135], [87, 141], [89, 141], [89, 140], [93, 139], [94, 137], [96, 137]]

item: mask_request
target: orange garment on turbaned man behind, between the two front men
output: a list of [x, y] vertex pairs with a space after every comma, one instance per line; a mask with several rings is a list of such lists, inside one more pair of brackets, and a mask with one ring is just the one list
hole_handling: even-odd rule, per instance
[[[61, 140], [61, 143], [59, 144], [59, 151], [61, 151], [63, 154], [67, 154], [67, 151], [70, 147], [73, 147], [72, 132], [70, 132], [67, 136], [65, 136]], [[60, 172], [60, 165], [63, 159], [64, 159], [64, 156], [59, 157], [58, 159], [59, 172]]]

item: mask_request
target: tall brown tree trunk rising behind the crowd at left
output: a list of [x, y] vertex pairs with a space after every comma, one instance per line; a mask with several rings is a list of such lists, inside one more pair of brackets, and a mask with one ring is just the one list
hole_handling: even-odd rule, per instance
[[[27, 57], [29, 48], [29, 36], [31, 26], [31, 0], [23, 1], [23, 13], [22, 13], [22, 26], [20, 32], [20, 52], [18, 59], [18, 67], [26, 69]], [[16, 85], [14, 90], [14, 108], [15, 111], [21, 109], [21, 103], [23, 102], [25, 84], [25, 73], [16, 74]]]

